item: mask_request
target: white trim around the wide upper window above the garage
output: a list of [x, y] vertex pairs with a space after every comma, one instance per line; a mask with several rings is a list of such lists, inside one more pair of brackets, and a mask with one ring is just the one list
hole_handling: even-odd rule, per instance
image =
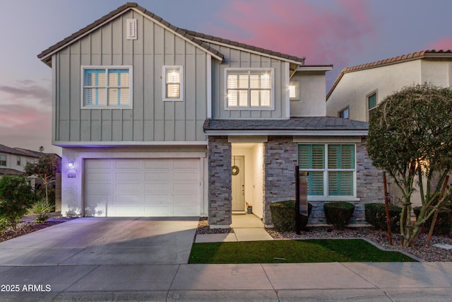
[[[104, 69], [108, 75], [109, 69], [129, 69], [129, 105], [85, 105], [85, 69]], [[108, 76], [107, 76], [108, 80]], [[133, 66], [131, 65], [82, 65], [80, 72], [80, 99], [81, 109], [132, 109], [133, 108]], [[108, 82], [107, 82], [108, 83]], [[105, 88], [108, 90], [108, 85]], [[107, 96], [108, 102], [108, 96]]]

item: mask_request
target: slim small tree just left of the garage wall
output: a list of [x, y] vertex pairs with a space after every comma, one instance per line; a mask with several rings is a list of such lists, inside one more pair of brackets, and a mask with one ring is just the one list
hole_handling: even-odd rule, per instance
[[59, 169], [59, 164], [53, 154], [42, 153], [44, 148], [40, 147], [40, 158], [35, 163], [27, 163], [25, 165], [25, 173], [27, 175], [36, 175], [45, 187], [45, 201], [49, 202], [49, 185], [55, 182], [55, 174]]

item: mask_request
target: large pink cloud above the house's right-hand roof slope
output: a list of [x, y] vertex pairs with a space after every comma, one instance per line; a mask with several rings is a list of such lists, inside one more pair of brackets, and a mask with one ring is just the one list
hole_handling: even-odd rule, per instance
[[[297, 0], [234, 0], [219, 18], [232, 30], [213, 35], [307, 57], [306, 64], [346, 64], [375, 35], [368, 1], [335, 0], [328, 6]], [[211, 26], [210, 26], [211, 27]], [[239, 35], [239, 37], [237, 37]]]

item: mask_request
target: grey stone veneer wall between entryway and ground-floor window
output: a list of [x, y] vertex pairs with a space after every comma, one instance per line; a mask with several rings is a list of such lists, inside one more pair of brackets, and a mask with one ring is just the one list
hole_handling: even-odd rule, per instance
[[268, 137], [263, 143], [263, 222], [271, 221], [270, 204], [284, 200], [295, 200], [295, 166], [298, 145], [293, 137]]

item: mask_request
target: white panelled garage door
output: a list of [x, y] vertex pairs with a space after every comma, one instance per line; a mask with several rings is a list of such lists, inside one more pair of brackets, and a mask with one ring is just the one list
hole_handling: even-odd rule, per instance
[[199, 216], [198, 159], [85, 160], [85, 216]]

